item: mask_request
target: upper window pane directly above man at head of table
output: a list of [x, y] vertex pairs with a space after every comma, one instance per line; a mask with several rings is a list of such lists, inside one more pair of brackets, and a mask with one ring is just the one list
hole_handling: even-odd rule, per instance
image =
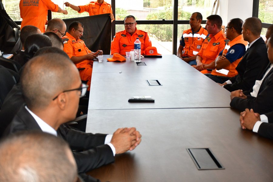
[[116, 20], [133, 15], [137, 20], [173, 19], [172, 0], [116, 0]]

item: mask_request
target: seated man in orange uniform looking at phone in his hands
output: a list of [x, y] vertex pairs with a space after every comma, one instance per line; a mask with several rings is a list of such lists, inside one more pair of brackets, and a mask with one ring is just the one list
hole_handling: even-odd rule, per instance
[[62, 37], [63, 51], [67, 53], [70, 59], [76, 64], [79, 69], [80, 77], [83, 81], [87, 81], [89, 85], [88, 91], [90, 91], [91, 76], [93, 69], [93, 59], [98, 55], [103, 55], [102, 50], [98, 50], [96, 53], [89, 50], [81, 36], [83, 35], [83, 24], [80, 22], [72, 22], [69, 25], [68, 32]]

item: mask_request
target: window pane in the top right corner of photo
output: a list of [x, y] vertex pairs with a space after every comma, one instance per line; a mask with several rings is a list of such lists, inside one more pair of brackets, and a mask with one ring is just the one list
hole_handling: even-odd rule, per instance
[[258, 18], [263, 23], [273, 22], [273, 0], [259, 0], [259, 14]]

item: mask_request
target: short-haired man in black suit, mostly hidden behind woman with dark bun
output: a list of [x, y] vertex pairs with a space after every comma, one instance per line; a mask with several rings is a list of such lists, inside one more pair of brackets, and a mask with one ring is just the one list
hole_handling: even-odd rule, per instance
[[19, 54], [17, 54], [13, 60], [17, 61], [21, 66], [25, 64], [24, 56], [25, 56], [25, 40], [28, 36], [34, 35], [34, 34], [41, 34], [41, 31], [36, 27], [32, 25], [24, 26], [21, 29], [20, 32], [20, 41], [22, 43], [22, 50]]

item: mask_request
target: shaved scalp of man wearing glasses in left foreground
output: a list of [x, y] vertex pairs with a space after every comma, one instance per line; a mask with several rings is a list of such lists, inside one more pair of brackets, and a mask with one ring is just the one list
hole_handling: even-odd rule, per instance
[[[79, 79], [72, 61], [60, 54], [48, 53], [33, 57], [21, 75], [22, 92], [29, 109], [45, 108], [52, 99]], [[78, 71], [76, 72], [78, 74]]]

